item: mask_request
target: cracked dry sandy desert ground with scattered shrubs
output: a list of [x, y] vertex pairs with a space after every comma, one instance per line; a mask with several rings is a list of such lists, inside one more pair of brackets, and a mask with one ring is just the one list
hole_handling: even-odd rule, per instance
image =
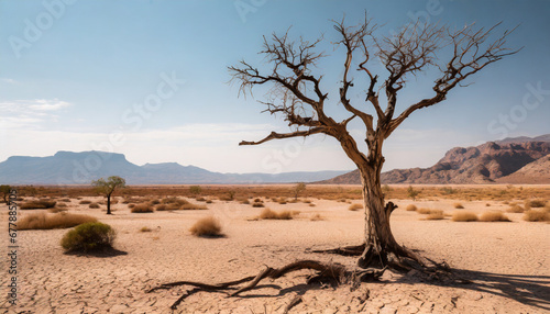
[[[530, 198], [550, 200], [550, 187], [420, 186], [415, 187], [421, 191], [416, 200], [407, 197], [406, 188], [385, 187], [388, 200], [399, 206], [392, 215], [394, 236], [425, 257], [446, 261], [465, 281], [444, 283], [416, 276], [415, 271], [386, 271], [378, 282], [308, 285], [306, 280], [312, 271], [301, 270], [266, 279], [234, 298], [198, 292], [172, 311], [170, 305], [191, 287], [146, 290], [182, 280], [237, 280], [254, 276], [266, 266], [282, 267], [300, 259], [353, 268], [356, 257], [311, 250], [363, 240], [364, 212], [349, 210], [351, 204], [361, 203], [360, 187], [308, 186], [297, 202], [293, 202], [292, 186], [238, 187], [231, 192], [233, 200], [227, 197], [231, 187], [204, 187], [199, 195], [189, 194], [188, 187], [162, 192], [134, 187], [133, 194], [117, 194], [112, 215], [106, 214], [105, 198], [85, 188], [45, 188], [33, 191], [34, 195], [21, 193], [21, 202], [47, 197], [57, 204], [65, 203], [62, 210], [67, 213], [91, 215], [111, 225], [117, 231], [116, 250], [65, 254], [59, 242], [68, 228], [18, 231], [19, 294], [16, 305], [10, 305], [6, 298], [10, 280], [6, 276], [10, 262], [8, 211], [2, 204], [0, 309], [2, 313], [284, 313], [299, 296], [301, 302], [288, 313], [550, 312], [550, 224], [528, 222], [525, 213], [507, 212], [514, 202], [522, 205]], [[207, 210], [132, 213], [129, 208], [155, 199], [162, 203], [168, 194], [206, 205]], [[264, 208], [252, 206], [254, 199], [260, 199]], [[90, 209], [80, 204], [82, 200], [103, 204]], [[457, 209], [458, 203], [464, 209]], [[421, 211], [407, 211], [409, 204], [441, 210], [443, 218], [427, 220]], [[265, 208], [294, 211], [294, 218], [257, 218]], [[477, 215], [502, 211], [512, 222], [452, 221], [458, 211]], [[21, 221], [47, 211], [18, 212]], [[218, 218], [224, 236], [198, 237], [189, 232], [206, 216]]]

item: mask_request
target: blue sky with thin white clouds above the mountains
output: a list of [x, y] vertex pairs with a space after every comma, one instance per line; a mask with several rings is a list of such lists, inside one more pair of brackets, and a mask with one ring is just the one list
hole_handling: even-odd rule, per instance
[[[262, 66], [262, 36], [290, 25], [293, 37], [322, 33], [329, 57], [317, 74], [326, 75], [328, 111], [343, 117], [334, 93], [343, 54], [330, 44], [330, 20], [345, 14], [353, 24], [365, 10], [384, 24], [380, 34], [418, 18], [453, 27], [503, 21], [495, 34], [519, 24], [508, 46], [524, 46], [446, 102], [413, 114], [385, 144], [385, 170], [429, 167], [454, 146], [550, 133], [548, 1], [2, 0], [0, 160], [98, 149], [138, 165], [177, 161], [221, 172], [353, 169], [323, 136], [239, 147], [287, 126], [261, 114], [253, 98], [238, 98], [227, 67], [241, 59]], [[435, 78], [413, 78], [398, 110], [430, 96]], [[363, 91], [352, 90], [352, 100]], [[264, 99], [261, 90], [254, 96]], [[360, 124], [352, 126], [362, 142]]]

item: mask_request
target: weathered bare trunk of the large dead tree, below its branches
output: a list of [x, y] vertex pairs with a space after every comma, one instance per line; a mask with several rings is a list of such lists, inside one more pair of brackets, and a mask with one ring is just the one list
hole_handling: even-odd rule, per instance
[[421, 263], [415, 254], [405, 249], [394, 238], [389, 216], [396, 209], [394, 203], [384, 204], [381, 186], [383, 159], [381, 155], [367, 167], [360, 168], [365, 206], [365, 249], [358, 261], [361, 268], [383, 268], [387, 265], [406, 268], [400, 258], [407, 257]]

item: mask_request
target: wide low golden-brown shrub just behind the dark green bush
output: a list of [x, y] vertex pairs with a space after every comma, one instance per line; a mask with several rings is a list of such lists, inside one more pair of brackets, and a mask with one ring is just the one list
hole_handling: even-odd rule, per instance
[[23, 216], [18, 222], [20, 231], [25, 229], [55, 229], [55, 228], [69, 228], [79, 224], [97, 222], [92, 216], [69, 214], [69, 213], [34, 213]]

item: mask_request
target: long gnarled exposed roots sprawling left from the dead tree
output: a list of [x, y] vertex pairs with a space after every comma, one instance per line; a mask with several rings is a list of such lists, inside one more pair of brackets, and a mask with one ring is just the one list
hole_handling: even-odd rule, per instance
[[[343, 283], [349, 280], [355, 280], [360, 282], [365, 282], [365, 281], [376, 281], [378, 278], [384, 273], [386, 268], [383, 269], [367, 269], [367, 270], [355, 270], [355, 271], [350, 271], [346, 270], [345, 267], [343, 267], [340, 263], [323, 263], [319, 262], [316, 260], [298, 260], [295, 262], [292, 262], [289, 265], [286, 265], [282, 268], [271, 268], [267, 267], [264, 270], [262, 270], [256, 276], [249, 276], [240, 280], [234, 280], [234, 281], [228, 281], [223, 283], [218, 283], [218, 284], [208, 284], [208, 283], [202, 283], [202, 282], [194, 282], [194, 281], [176, 281], [176, 282], [170, 282], [170, 283], [164, 283], [158, 287], [152, 288], [146, 291], [146, 293], [161, 290], [161, 289], [170, 289], [174, 287], [179, 287], [179, 285], [191, 285], [195, 287], [193, 290], [189, 290], [186, 292], [184, 295], [182, 295], [174, 304], [172, 304], [170, 309], [175, 310], [177, 306], [189, 295], [195, 294], [200, 291], [206, 291], [206, 292], [221, 292], [221, 293], [227, 293], [228, 296], [237, 296], [242, 292], [249, 291], [254, 289], [260, 281], [262, 281], [265, 278], [271, 278], [271, 279], [277, 279], [280, 278], [289, 272], [293, 271], [298, 271], [302, 269], [311, 269], [316, 270], [317, 273], [314, 277], [310, 277], [308, 279], [308, 284], [312, 282], [337, 282], [337, 283]], [[235, 285], [239, 285], [241, 283], [249, 282], [246, 285], [243, 285], [241, 288], [238, 288]], [[229, 293], [229, 291], [232, 291]], [[295, 303], [296, 302], [296, 303]], [[300, 300], [293, 300], [292, 306], [295, 306], [301, 302]], [[288, 305], [289, 309], [292, 307], [290, 304]], [[289, 310], [288, 309], [288, 310]]]

